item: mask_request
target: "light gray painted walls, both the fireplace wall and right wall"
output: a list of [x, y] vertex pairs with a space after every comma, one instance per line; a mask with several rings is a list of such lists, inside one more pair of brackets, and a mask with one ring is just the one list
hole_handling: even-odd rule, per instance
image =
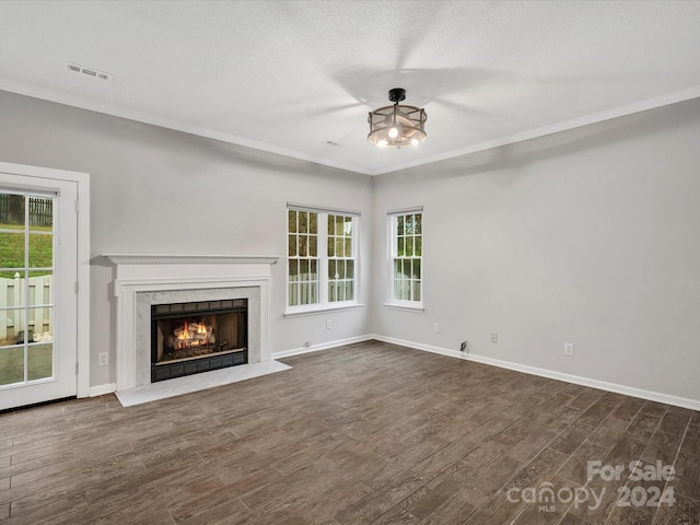
[[[273, 352], [372, 332], [468, 339], [483, 357], [700, 400], [700, 101], [374, 178], [4, 92], [0, 116], [1, 161], [92, 175], [93, 256], [283, 256], [287, 201], [360, 210], [366, 307], [284, 318], [282, 260]], [[201, 205], [185, 212], [184, 197]], [[383, 306], [386, 211], [415, 205], [424, 313]], [[96, 366], [104, 350], [114, 362], [110, 269], [92, 279], [101, 385], [115, 380]]]

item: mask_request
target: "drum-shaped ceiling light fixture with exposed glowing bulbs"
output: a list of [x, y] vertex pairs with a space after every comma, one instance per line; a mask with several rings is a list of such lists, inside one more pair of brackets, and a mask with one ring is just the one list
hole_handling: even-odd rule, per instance
[[399, 105], [406, 100], [406, 90], [389, 90], [393, 106], [384, 106], [370, 112], [370, 133], [368, 140], [378, 148], [406, 148], [425, 140], [428, 115], [421, 107]]

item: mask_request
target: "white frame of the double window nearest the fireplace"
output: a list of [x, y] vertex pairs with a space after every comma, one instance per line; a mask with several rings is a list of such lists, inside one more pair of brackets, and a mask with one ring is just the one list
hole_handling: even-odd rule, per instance
[[[323, 208], [317, 206], [298, 205], [288, 202], [284, 210], [284, 224], [285, 224], [285, 237], [289, 236], [289, 210], [306, 211], [317, 213], [316, 225], [316, 253], [318, 258], [318, 302], [313, 304], [300, 304], [290, 305], [290, 255], [289, 255], [289, 241], [285, 241], [287, 245], [287, 262], [285, 262], [285, 293], [284, 293], [284, 316], [293, 316], [301, 314], [311, 314], [315, 312], [326, 312], [332, 310], [355, 308], [363, 306], [360, 302], [360, 212], [334, 208]], [[352, 218], [352, 254], [354, 259], [354, 276], [353, 276], [353, 299], [349, 301], [329, 301], [328, 296], [328, 261], [331, 259], [328, 257], [328, 215], [345, 215]]]

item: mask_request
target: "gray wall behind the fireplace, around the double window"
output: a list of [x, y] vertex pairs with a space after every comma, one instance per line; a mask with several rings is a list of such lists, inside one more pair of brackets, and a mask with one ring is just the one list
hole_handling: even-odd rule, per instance
[[[272, 352], [369, 334], [364, 310], [284, 318], [287, 201], [362, 212], [371, 260], [370, 177], [0, 91], [0, 160], [91, 174], [91, 253], [279, 255]], [[91, 385], [115, 381], [112, 269], [92, 267]], [[368, 276], [361, 298], [370, 295]], [[332, 319], [326, 330], [325, 320]]]

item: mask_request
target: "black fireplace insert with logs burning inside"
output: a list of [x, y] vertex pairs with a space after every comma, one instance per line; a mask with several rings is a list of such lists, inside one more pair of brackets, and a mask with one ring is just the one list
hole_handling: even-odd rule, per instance
[[151, 383], [248, 362], [248, 300], [151, 305]]

